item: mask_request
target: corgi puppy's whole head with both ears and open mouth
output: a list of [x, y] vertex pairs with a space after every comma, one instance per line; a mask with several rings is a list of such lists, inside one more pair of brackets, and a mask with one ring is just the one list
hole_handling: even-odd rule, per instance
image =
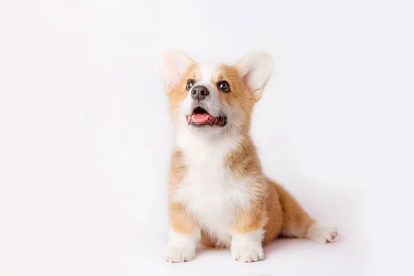
[[271, 71], [272, 60], [264, 53], [228, 66], [196, 63], [170, 50], [164, 57], [163, 77], [175, 126], [203, 135], [248, 131], [253, 106]]

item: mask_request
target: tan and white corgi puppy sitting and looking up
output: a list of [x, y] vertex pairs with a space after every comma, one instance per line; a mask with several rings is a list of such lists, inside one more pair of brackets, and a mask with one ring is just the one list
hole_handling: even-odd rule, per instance
[[337, 237], [334, 225], [310, 217], [262, 172], [249, 130], [272, 68], [262, 52], [231, 66], [197, 63], [179, 50], [166, 53], [162, 74], [174, 126], [167, 262], [190, 261], [198, 242], [230, 248], [239, 262], [257, 262], [277, 237], [322, 243]]

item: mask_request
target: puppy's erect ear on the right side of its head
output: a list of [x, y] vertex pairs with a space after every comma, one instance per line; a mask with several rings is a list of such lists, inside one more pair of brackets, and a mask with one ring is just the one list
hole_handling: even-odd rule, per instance
[[270, 55], [264, 52], [247, 55], [237, 61], [235, 67], [247, 88], [253, 92], [255, 101], [259, 101], [273, 70], [273, 61]]

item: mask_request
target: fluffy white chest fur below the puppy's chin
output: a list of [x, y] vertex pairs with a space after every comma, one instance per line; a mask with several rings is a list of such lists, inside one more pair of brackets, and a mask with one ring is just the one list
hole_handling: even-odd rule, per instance
[[224, 166], [237, 141], [231, 137], [216, 140], [192, 137], [190, 141], [188, 138], [181, 137], [177, 143], [183, 151], [187, 173], [175, 190], [175, 199], [186, 204], [202, 229], [229, 243], [235, 208], [249, 202], [245, 193], [248, 179], [235, 179]]

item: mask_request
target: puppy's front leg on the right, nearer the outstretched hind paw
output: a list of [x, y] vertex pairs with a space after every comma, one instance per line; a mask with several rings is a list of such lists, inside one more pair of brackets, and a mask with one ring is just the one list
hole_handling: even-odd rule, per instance
[[240, 262], [257, 262], [264, 259], [262, 241], [264, 238], [263, 206], [252, 204], [248, 210], [237, 210], [236, 223], [231, 233], [230, 252]]

